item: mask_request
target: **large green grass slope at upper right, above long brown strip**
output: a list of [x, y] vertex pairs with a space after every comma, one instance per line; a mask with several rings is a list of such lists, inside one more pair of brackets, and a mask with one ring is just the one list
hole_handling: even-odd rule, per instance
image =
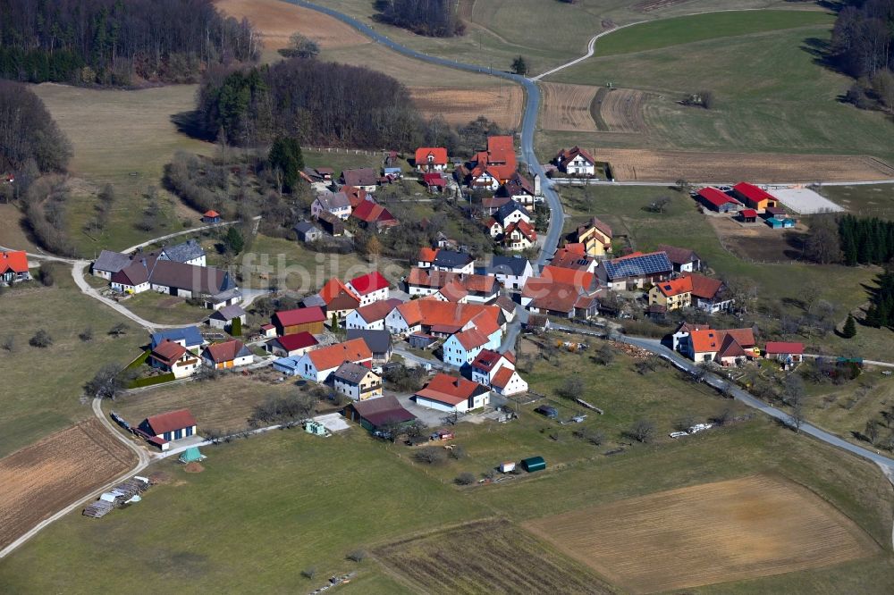
[[[591, 58], [550, 80], [597, 86], [611, 81], [618, 88], [662, 95], [664, 99], [645, 103], [648, 134], [562, 133], [556, 138], [589, 147], [855, 154], [894, 163], [890, 142], [894, 123], [882, 113], [841, 103], [839, 96], [852, 80], [817, 63], [816, 48], [830, 39], [831, 21], [826, 15], [740, 13], [749, 23], [746, 30], [753, 32], [670, 45], [675, 38], [713, 35], [715, 21], [722, 27], [734, 26], [730, 20], [737, 14], [705, 14], [637, 25], [604, 38], [606, 51], [613, 55]], [[640, 29], [654, 37], [640, 37]], [[662, 47], [648, 50], [652, 44]], [[620, 53], [625, 50], [632, 53]], [[714, 106], [709, 110], [676, 103], [687, 94], [704, 90], [713, 92]], [[545, 154], [547, 149], [541, 148]]]

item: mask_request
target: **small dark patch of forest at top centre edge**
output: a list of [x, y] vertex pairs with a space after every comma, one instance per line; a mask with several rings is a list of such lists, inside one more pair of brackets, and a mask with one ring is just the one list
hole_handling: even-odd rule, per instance
[[375, 20], [417, 35], [451, 38], [466, 29], [457, 15], [457, 4], [458, 0], [376, 0]]

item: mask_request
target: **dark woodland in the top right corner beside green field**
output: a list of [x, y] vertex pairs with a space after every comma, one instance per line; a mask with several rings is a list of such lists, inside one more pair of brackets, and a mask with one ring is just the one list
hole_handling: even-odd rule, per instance
[[894, 111], [894, 0], [844, 0], [832, 29], [831, 58], [856, 79], [846, 99]]

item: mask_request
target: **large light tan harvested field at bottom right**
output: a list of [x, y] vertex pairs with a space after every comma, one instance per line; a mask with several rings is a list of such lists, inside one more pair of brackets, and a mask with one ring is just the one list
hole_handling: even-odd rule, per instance
[[812, 492], [768, 475], [578, 509], [527, 528], [635, 593], [784, 574], [879, 550]]

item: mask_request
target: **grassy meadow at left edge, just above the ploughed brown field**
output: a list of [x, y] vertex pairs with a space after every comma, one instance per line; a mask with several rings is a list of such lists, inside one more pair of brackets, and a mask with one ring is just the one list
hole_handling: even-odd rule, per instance
[[[12, 352], [0, 350], [0, 457], [93, 415], [89, 403], [80, 402], [83, 384], [106, 363], [126, 365], [148, 342], [124, 317], [81, 294], [68, 267], [60, 266], [54, 276], [54, 287], [34, 281], [0, 298], [5, 321], [0, 338], [12, 336], [15, 346]], [[129, 323], [126, 334], [107, 334], [122, 322]], [[93, 340], [84, 342], [78, 335], [87, 327]], [[50, 333], [52, 346], [28, 344], [38, 329]]]

